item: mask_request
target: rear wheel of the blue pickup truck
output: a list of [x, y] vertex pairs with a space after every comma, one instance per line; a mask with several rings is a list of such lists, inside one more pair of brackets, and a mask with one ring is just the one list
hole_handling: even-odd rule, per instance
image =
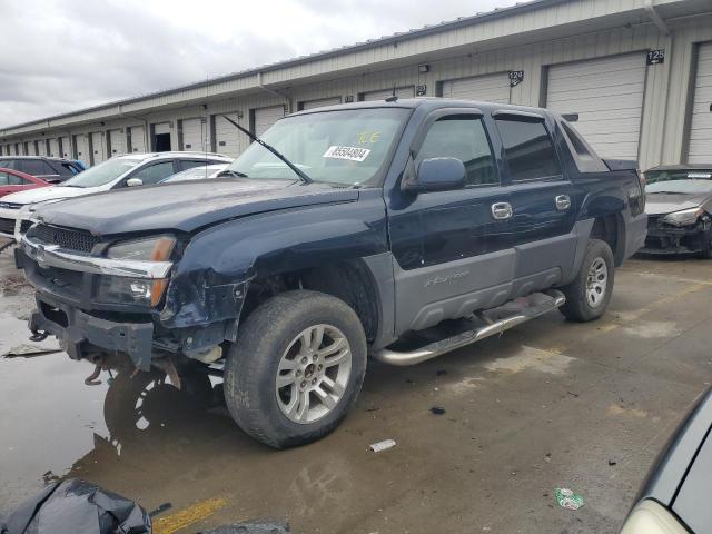
[[606, 310], [614, 281], [613, 253], [607, 243], [590, 239], [576, 278], [561, 288], [566, 303], [560, 308], [570, 320], [586, 323]]

